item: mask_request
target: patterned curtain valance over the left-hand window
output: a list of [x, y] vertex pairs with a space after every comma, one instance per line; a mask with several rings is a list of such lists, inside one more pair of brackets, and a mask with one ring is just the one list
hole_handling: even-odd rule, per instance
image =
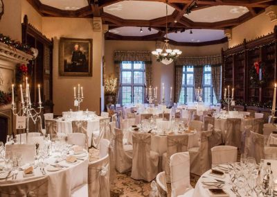
[[146, 64], [151, 64], [151, 51], [114, 51], [114, 62], [123, 61], [142, 61]]

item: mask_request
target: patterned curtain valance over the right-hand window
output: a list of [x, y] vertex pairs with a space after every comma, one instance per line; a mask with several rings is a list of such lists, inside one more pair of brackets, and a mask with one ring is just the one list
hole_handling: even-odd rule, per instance
[[179, 57], [175, 61], [176, 66], [218, 66], [222, 64], [221, 55], [212, 55], [204, 57]]

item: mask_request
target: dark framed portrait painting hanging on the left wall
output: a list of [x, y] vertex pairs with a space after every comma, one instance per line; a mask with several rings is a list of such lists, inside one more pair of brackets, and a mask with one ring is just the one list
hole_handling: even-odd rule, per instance
[[60, 38], [60, 76], [92, 76], [92, 39]]

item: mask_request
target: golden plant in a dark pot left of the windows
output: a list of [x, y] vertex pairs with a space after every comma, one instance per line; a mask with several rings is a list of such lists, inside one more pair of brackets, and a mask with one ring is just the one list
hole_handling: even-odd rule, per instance
[[107, 105], [114, 104], [116, 100], [116, 85], [117, 78], [112, 76], [105, 78], [105, 103], [107, 103]]

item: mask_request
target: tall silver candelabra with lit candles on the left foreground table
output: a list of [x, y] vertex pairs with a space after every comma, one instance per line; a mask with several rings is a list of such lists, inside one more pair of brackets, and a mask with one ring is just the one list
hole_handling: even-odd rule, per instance
[[[30, 119], [36, 123], [39, 114], [42, 112], [42, 99], [40, 95], [40, 86], [38, 85], [38, 92], [39, 92], [39, 107], [38, 110], [32, 107], [31, 99], [30, 99], [30, 87], [28, 84], [28, 78], [26, 77], [26, 87], [25, 89], [22, 88], [20, 85], [20, 94], [21, 94], [21, 105], [19, 110], [15, 105], [15, 95], [14, 95], [14, 85], [12, 84], [12, 114], [17, 117], [25, 117], [26, 118], [26, 143], [28, 144], [28, 133], [29, 133], [29, 121]], [[25, 94], [23, 94], [25, 93]], [[21, 144], [21, 129], [20, 129], [20, 144]]]

